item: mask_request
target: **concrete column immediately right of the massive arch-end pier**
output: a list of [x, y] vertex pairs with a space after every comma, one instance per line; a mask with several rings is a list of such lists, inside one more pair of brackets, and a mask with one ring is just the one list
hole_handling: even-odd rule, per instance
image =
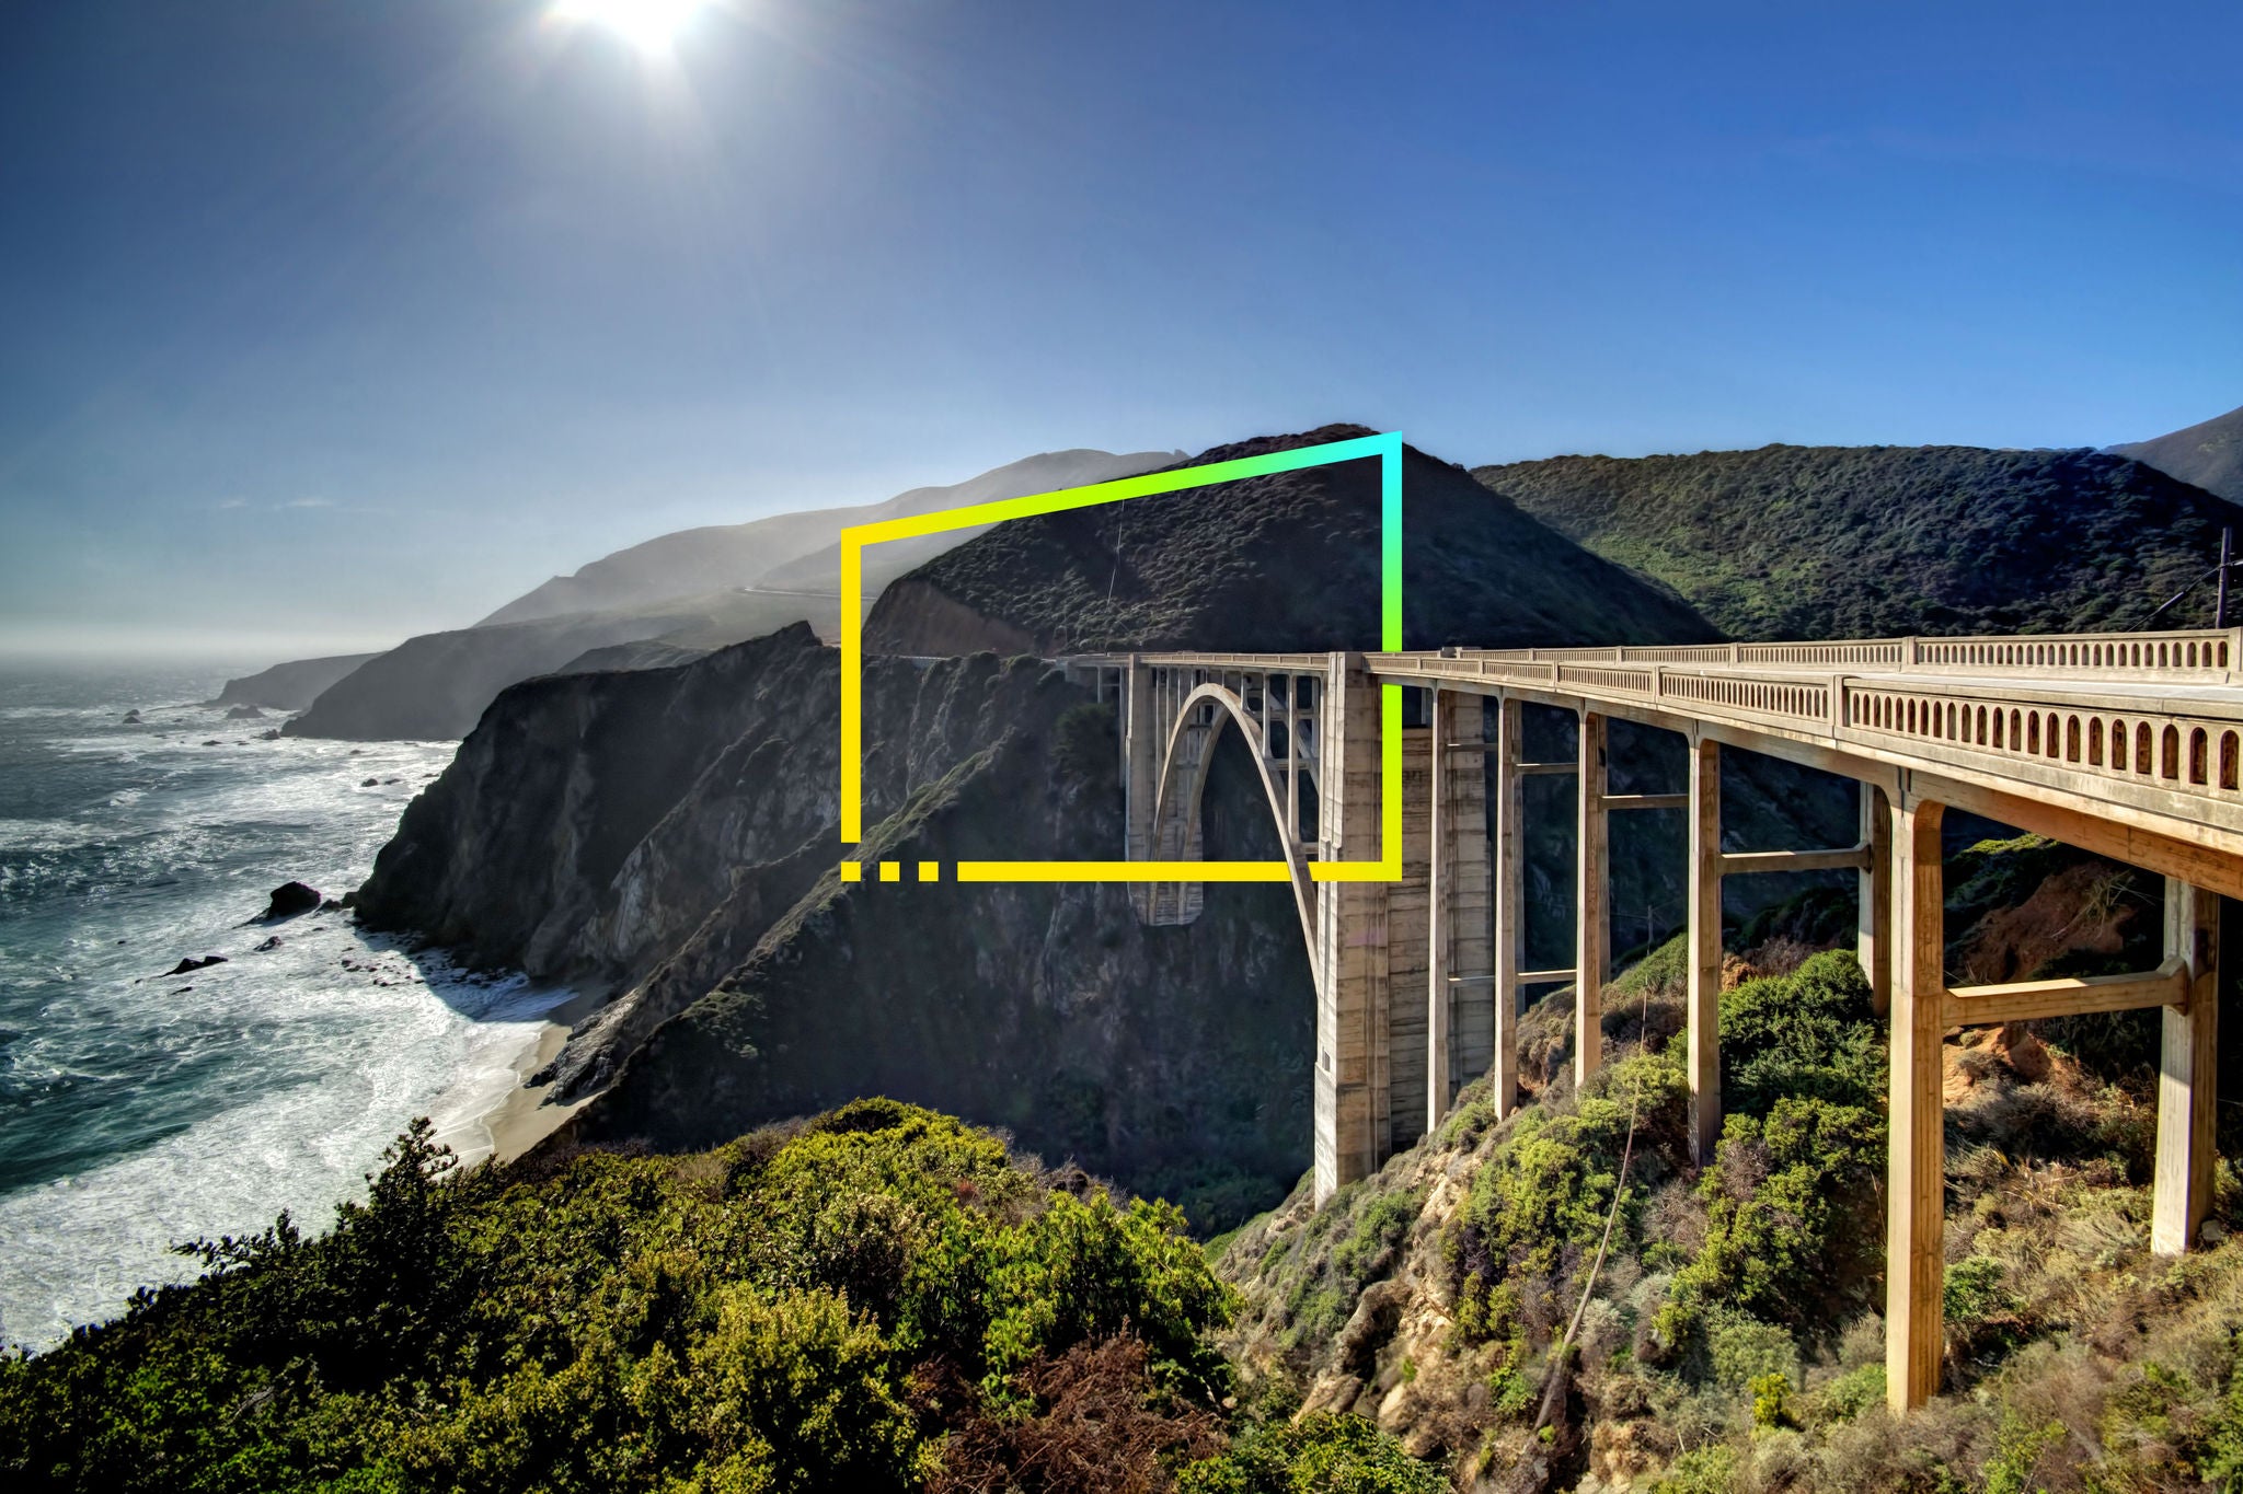
[[1427, 1131], [1456, 1091], [1487, 1073], [1489, 970], [1487, 766], [1478, 694], [1433, 690], [1433, 856], [1427, 947]]

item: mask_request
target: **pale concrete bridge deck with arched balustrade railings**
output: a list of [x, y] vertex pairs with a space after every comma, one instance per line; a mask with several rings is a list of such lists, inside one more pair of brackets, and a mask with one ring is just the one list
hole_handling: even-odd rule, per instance
[[[1137, 656], [1209, 679], [1321, 672], [1330, 659]], [[1386, 683], [1597, 710], [1864, 782], [1927, 775], [1945, 802], [2090, 849], [2113, 851], [2113, 838], [2084, 822], [2203, 847], [2232, 862], [2203, 885], [2243, 896], [2243, 629], [1362, 659]], [[2032, 820], [2021, 802], [2046, 813]]]

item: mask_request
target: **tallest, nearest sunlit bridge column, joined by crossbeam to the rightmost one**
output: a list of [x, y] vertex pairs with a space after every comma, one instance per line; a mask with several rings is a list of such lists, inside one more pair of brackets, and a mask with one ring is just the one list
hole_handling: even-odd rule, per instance
[[1893, 835], [1893, 1024], [1884, 1189], [1884, 1395], [1895, 1411], [1940, 1389], [1947, 1277], [1947, 1136], [1940, 1037], [1947, 1028], [1945, 804], [1904, 800]]

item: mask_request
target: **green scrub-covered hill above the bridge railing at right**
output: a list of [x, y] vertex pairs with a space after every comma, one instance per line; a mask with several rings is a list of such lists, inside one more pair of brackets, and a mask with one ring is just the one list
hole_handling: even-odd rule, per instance
[[[2212, 567], [2221, 526], [2243, 520], [2093, 450], [1763, 446], [1474, 477], [1734, 638], [2129, 629]], [[2205, 589], [2162, 625], [2209, 620]]]

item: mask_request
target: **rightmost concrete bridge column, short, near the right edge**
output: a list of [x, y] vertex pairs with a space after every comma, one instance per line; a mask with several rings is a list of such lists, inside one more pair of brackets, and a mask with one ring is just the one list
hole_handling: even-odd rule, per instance
[[2164, 959], [2189, 972], [2189, 1003], [2162, 1008], [2158, 1064], [2158, 1174], [2149, 1207], [2149, 1248], [2180, 1254], [2212, 1207], [2212, 1124], [2221, 1037], [2221, 898], [2164, 878]]

